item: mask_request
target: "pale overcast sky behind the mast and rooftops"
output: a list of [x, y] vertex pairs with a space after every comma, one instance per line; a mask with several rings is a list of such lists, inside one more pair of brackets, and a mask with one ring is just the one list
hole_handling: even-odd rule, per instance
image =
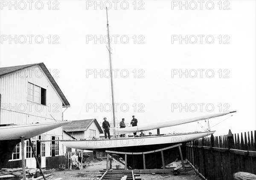
[[[256, 129], [253, 0], [1, 0], [0, 66], [44, 62], [70, 102], [64, 119], [111, 122], [104, 6], [110, 7], [118, 122], [131, 122], [132, 115], [145, 124], [237, 110], [210, 120], [213, 126], [226, 119], [211, 130]], [[161, 131], [202, 130], [194, 122]]]

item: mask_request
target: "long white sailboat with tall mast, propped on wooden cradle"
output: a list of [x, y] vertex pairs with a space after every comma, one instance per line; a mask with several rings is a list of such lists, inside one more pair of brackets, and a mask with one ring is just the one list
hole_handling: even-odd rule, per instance
[[[61, 140], [62, 144], [76, 149], [82, 150], [91, 150], [91, 151], [117, 151], [117, 152], [145, 152], [145, 151], [155, 151], [161, 148], [167, 148], [172, 145], [177, 145], [182, 143], [183, 145], [186, 142], [193, 141], [195, 139], [200, 139], [211, 134], [214, 134], [215, 131], [209, 131], [209, 128], [205, 132], [193, 132], [193, 133], [180, 133], [180, 134], [159, 134], [153, 136], [134, 136], [134, 137], [119, 137], [121, 134], [128, 134], [133, 132], [139, 132], [141, 130], [148, 131], [158, 128], [166, 128], [175, 125], [186, 124], [190, 122], [197, 122], [201, 120], [209, 120], [215, 117], [228, 115], [230, 113], [235, 113], [236, 111], [227, 112], [227, 113], [215, 113], [207, 116], [199, 116], [187, 119], [177, 119], [170, 120], [161, 123], [147, 124], [147, 125], [138, 125], [134, 127], [127, 128], [117, 128], [116, 127], [116, 115], [115, 115], [115, 105], [114, 105], [114, 89], [113, 89], [113, 75], [112, 75], [112, 58], [111, 58], [111, 46], [110, 46], [110, 35], [109, 35], [109, 25], [108, 25], [108, 9], [107, 10], [107, 29], [108, 29], [108, 52], [109, 52], [109, 61], [110, 61], [110, 73], [111, 73], [111, 93], [112, 93], [112, 105], [113, 105], [113, 125], [114, 125], [114, 138], [113, 139], [91, 139], [91, 140]], [[165, 164], [172, 163], [176, 158], [179, 152], [178, 147], [166, 149], [163, 151]], [[155, 152], [154, 154], [144, 154], [146, 159], [147, 168], [161, 168], [162, 159], [157, 158], [161, 157], [160, 152]], [[124, 154], [120, 155], [124, 158]], [[127, 164], [131, 168], [142, 169], [143, 168], [143, 159], [142, 155], [128, 154], [127, 155]]]

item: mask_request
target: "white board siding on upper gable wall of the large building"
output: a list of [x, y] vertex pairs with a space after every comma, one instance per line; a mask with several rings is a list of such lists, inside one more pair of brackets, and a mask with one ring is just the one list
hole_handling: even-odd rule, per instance
[[[61, 98], [40, 66], [3, 75], [0, 79], [3, 108], [1, 124], [30, 124], [54, 122], [54, 119], [62, 120]], [[46, 105], [27, 100], [28, 82], [46, 89]]]

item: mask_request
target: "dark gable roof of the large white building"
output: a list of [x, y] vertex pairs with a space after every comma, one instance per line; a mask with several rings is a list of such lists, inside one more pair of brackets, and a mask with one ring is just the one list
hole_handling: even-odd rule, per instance
[[61, 97], [62, 102], [63, 102], [62, 106], [63, 107], [70, 106], [70, 104], [67, 101], [66, 97], [62, 93], [60, 87], [58, 87], [58, 84], [56, 83], [56, 81], [54, 80], [52, 75], [49, 73], [49, 71], [48, 71], [47, 67], [44, 65], [44, 63], [26, 64], [26, 65], [11, 66], [11, 67], [1, 67], [0, 68], [0, 76], [6, 75], [6, 74], [9, 74], [9, 73], [14, 73], [15, 71], [23, 70], [23, 69], [26, 69], [26, 68], [29, 68], [29, 67], [32, 67], [32, 66], [36, 66], [36, 65], [41, 67], [41, 69], [44, 71], [45, 75], [50, 80], [50, 82], [52, 83], [53, 87], [55, 88], [55, 90], [57, 91], [59, 96]]

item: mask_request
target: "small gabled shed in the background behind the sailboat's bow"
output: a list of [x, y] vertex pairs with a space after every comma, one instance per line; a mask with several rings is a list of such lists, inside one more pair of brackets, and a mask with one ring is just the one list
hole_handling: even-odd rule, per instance
[[96, 119], [72, 121], [64, 125], [63, 129], [77, 140], [99, 138], [99, 135], [103, 133]]

